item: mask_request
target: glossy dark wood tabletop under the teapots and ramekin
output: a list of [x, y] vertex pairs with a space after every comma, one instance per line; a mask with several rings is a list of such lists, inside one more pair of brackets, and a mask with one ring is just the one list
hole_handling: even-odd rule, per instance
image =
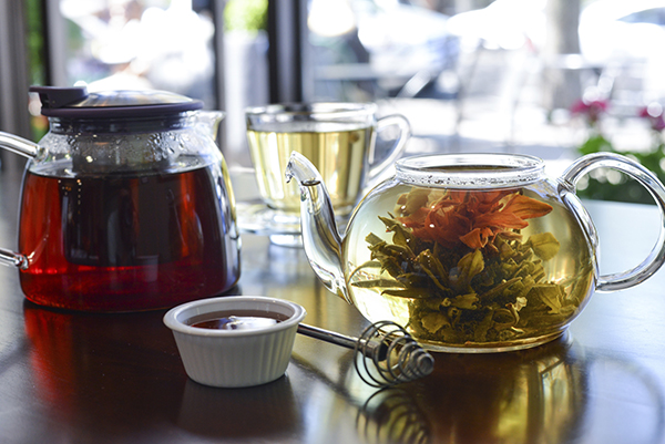
[[[16, 245], [20, 173], [0, 174], [0, 247]], [[656, 207], [587, 203], [601, 269], [637, 265]], [[301, 249], [243, 237], [232, 295], [300, 303], [306, 322], [366, 322], [315, 278]], [[0, 443], [663, 443], [665, 271], [594, 295], [569, 333], [531, 350], [436, 353], [434, 372], [377, 390], [352, 351], [296, 338], [286, 375], [249, 389], [187, 378], [163, 310], [95, 314], [24, 301], [0, 267]]]

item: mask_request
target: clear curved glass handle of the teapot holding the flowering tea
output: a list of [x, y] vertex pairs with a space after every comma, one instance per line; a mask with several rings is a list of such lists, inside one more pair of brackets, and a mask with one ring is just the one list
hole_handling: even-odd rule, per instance
[[[569, 206], [576, 213], [587, 233], [592, 228], [592, 223], [583, 210], [581, 205], [569, 199], [571, 194], [575, 193], [577, 180], [596, 168], [612, 168], [625, 173], [642, 186], [644, 186], [653, 196], [661, 208], [661, 231], [658, 239], [649, 255], [642, 264], [624, 272], [600, 276], [596, 286], [597, 291], [616, 291], [633, 287], [655, 273], [665, 261], [665, 187], [658, 178], [644, 166], [630, 159], [628, 157], [614, 153], [594, 153], [580, 157], [561, 176], [559, 194], [570, 204]], [[576, 200], [576, 199], [574, 199]], [[593, 246], [596, 247], [595, 245]]]

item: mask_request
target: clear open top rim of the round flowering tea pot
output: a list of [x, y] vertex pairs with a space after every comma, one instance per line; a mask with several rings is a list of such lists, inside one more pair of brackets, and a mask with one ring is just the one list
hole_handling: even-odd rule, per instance
[[526, 154], [427, 154], [396, 162], [405, 183], [442, 188], [508, 188], [543, 178], [545, 164]]

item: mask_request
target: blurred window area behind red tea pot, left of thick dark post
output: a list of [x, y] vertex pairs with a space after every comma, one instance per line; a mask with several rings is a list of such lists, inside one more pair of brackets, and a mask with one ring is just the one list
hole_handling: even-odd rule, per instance
[[[267, 7], [268, 0], [0, 0], [8, 24], [0, 25], [8, 48], [0, 45], [0, 66], [8, 70], [2, 91], [24, 99], [3, 101], [0, 128], [33, 140], [43, 134], [39, 103], [31, 111], [35, 131], [9, 121], [28, 121], [30, 84], [168, 90], [226, 111], [222, 145], [227, 158], [247, 164], [243, 111], [269, 101]], [[29, 32], [18, 27], [23, 18]], [[17, 34], [27, 40], [12, 55], [9, 42]], [[19, 75], [16, 66], [30, 61], [39, 62], [32, 74]]]

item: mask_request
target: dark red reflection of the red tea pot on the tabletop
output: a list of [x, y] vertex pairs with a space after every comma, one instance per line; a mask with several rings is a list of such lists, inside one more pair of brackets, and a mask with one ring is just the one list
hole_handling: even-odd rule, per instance
[[[186, 378], [170, 370], [180, 362], [162, 312], [106, 317], [25, 301], [23, 316], [30, 382], [53, 423], [93, 426], [123, 442], [155, 421], [175, 422]], [[109, 371], [119, 364], [122, 371]]]

